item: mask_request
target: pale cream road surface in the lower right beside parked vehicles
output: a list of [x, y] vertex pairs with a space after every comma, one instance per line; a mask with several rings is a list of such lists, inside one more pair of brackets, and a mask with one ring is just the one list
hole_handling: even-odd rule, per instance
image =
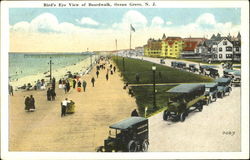
[[[149, 118], [149, 151], [240, 151], [240, 87], [217, 99], [184, 122], [163, 121], [162, 112]], [[234, 132], [234, 135], [226, 133]]]

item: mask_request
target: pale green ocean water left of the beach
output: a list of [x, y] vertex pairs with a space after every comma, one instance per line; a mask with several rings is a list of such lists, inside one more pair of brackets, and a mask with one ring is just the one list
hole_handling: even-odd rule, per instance
[[[86, 69], [90, 66], [90, 53], [60, 53], [60, 54], [39, 54], [39, 53], [9, 53], [9, 81], [14, 81], [26, 76], [49, 72], [50, 59], [53, 71], [75, 65], [80, 61], [86, 61]], [[94, 58], [93, 58], [94, 62]]]

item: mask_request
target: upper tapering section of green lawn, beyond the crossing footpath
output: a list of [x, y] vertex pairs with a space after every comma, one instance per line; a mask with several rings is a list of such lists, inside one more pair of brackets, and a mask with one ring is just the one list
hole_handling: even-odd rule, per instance
[[[122, 57], [113, 57], [113, 61], [117, 64], [119, 70], [122, 72], [125, 82], [128, 82], [129, 84], [153, 83], [152, 62], [132, 58], [124, 58], [124, 71]], [[160, 64], [155, 64], [155, 66], [156, 83], [196, 83], [213, 81], [213, 79], [210, 77], [200, 76]], [[138, 82], [136, 81], [136, 74], [139, 75]]]

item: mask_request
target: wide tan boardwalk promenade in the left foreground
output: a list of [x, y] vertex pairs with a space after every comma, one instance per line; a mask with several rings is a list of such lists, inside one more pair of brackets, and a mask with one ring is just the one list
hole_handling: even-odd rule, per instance
[[[46, 100], [46, 91], [18, 91], [9, 97], [9, 151], [87, 152], [103, 145], [108, 126], [130, 117], [136, 108], [135, 99], [123, 90], [119, 73], [109, 75], [96, 69], [82, 79], [87, 81], [86, 92], [71, 90], [65, 94], [56, 87], [55, 101]], [[90, 79], [95, 76], [92, 87]], [[56, 79], [58, 81], [58, 79]], [[24, 96], [33, 95], [36, 111], [24, 111]], [[75, 102], [75, 113], [61, 117], [60, 103], [65, 98]]]

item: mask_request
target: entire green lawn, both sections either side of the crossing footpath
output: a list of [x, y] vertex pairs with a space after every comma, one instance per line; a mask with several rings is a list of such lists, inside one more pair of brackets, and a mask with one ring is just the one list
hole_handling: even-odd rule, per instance
[[[128, 82], [129, 84], [153, 83], [152, 62], [124, 58], [125, 69], [123, 69], [122, 57], [113, 57], [113, 61], [121, 71], [124, 82]], [[213, 81], [213, 79], [210, 77], [181, 71], [159, 64], [155, 64], [155, 66], [156, 83], [201, 83]], [[136, 81], [136, 74], [138, 74], [140, 77], [139, 81]], [[145, 107], [148, 107], [147, 115], [152, 115], [166, 107], [166, 99], [168, 99], [169, 96], [166, 91], [172, 87], [174, 86], [156, 86], [156, 109], [153, 108], [153, 86], [132, 87], [140, 115], [144, 116]]]

